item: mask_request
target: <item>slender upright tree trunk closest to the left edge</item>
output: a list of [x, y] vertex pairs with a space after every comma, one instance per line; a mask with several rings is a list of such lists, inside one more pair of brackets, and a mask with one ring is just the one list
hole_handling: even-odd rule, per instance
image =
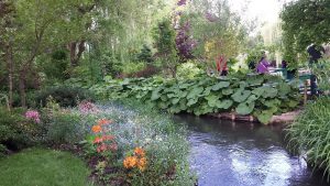
[[13, 102], [13, 55], [12, 55], [12, 46], [7, 46], [7, 68], [8, 68], [8, 98], [9, 98], [9, 107], [12, 108]]

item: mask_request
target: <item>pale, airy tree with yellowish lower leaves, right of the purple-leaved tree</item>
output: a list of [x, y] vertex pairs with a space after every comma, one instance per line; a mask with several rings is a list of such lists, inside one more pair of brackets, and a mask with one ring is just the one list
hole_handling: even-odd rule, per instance
[[185, 19], [190, 21], [197, 40], [194, 54], [199, 61], [213, 68], [219, 55], [229, 59], [242, 51], [246, 30], [227, 0], [191, 0], [188, 6]]

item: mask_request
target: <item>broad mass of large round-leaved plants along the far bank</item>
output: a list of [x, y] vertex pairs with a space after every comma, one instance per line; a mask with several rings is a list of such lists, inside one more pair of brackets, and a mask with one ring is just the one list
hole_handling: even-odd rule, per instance
[[263, 123], [267, 123], [273, 114], [293, 110], [299, 103], [295, 83], [287, 84], [274, 76], [242, 76], [110, 80], [97, 91], [111, 99], [139, 99], [173, 113], [184, 111], [200, 116], [234, 110], [240, 114], [256, 116]]

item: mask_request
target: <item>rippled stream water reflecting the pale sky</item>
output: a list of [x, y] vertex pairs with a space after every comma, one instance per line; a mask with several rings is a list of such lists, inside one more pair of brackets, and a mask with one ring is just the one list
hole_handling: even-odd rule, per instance
[[178, 116], [188, 125], [199, 186], [326, 186], [306, 162], [288, 154], [280, 129]]

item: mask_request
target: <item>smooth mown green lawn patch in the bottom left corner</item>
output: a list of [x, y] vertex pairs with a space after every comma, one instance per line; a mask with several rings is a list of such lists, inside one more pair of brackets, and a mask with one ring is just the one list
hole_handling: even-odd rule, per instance
[[0, 158], [0, 186], [86, 186], [89, 174], [68, 152], [28, 149]]

